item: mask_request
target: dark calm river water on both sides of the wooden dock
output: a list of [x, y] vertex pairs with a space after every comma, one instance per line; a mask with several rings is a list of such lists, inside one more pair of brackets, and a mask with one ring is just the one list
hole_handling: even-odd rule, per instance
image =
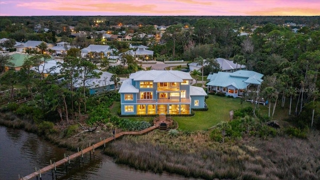
[[[33, 133], [20, 129], [12, 129], [0, 126], [0, 179], [18, 179], [34, 171], [34, 168], [42, 168], [49, 164], [50, 159], [58, 161], [73, 152], [56, 147]], [[192, 179], [175, 174], [155, 174], [152, 172], [138, 171], [125, 165], [118, 165], [112, 158], [95, 150], [95, 156], [84, 154], [82, 160], [71, 160], [67, 166], [57, 167], [54, 179]], [[33, 178], [36, 179], [36, 178]], [[52, 179], [51, 171], [42, 174], [42, 179]]]

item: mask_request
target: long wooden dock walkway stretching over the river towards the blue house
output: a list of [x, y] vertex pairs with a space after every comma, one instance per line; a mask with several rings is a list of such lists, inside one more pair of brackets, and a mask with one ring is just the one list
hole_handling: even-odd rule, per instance
[[95, 148], [100, 147], [100, 146], [104, 145], [105, 143], [114, 140], [114, 138], [121, 137], [122, 135], [140, 135], [140, 134], [144, 134], [144, 133], [149, 132], [149, 131], [151, 131], [153, 129], [156, 129], [156, 128], [158, 128], [158, 125], [153, 125], [151, 127], [145, 128], [145, 129], [140, 130], [140, 131], [123, 131], [123, 132], [115, 133], [114, 137], [112, 136], [112, 137], [108, 137], [106, 139], [103, 139], [100, 142], [92, 144], [92, 145], [90, 145], [89, 147], [87, 147], [85, 149], [81, 149], [79, 152], [76, 152], [76, 153], [74, 153], [72, 155], [69, 155], [69, 156], [67, 156], [67, 157], [65, 157], [65, 158], [63, 158], [63, 159], [61, 159], [61, 160], [59, 160], [57, 162], [54, 162], [54, 163], [52, 163], [52, 164], [50, 164], [48, 166], [45, 166], [45, 167], [43, 167], [43, 168], [41, 168], [41, 169], [39, 169], [39, 170], [37, 170], [35, 172], [32, 172], [29, 175], [26, 175], [26, 176], [24, 176], [22, 178], [19, 178], [19, 180], [28, 180], [28, 179], [36, 177], [36, 176], [38, 176], [40, 174], [43, 174], [44, 172], [47, 172], [47, 171], [49, 171], [51, 169], [54, 169], [54, 167], [57, 167], [57, 166], [62, 165], [64, 163], [67, 163], [69, 160], [72, 160], [72, 159], [74, 159], [76, 157], [79, 157], [82, 154], [85, 154], [85, 153], [87, 153], [87, 152], [89, 152], [91, 150], [94, 151]]

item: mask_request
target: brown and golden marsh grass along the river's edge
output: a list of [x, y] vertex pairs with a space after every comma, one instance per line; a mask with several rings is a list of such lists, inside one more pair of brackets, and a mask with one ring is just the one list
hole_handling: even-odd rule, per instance
[[[204, 179], [319, 179], [318, 132], [307, 139], [273, 137], [213, 142], [207, 131], [177, 136], [155, 130], [124, 136], [104, 152], [140, 170], [167, 171]], [[121, 149], [121, 150], [119, 150]]]

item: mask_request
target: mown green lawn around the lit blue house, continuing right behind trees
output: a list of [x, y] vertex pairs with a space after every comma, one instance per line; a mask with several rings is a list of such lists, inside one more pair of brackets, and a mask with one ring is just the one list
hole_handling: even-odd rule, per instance
[[[280, 107], [280, 102], [278, 102], [273, 120], [283, 120], [287, 118], [288, 114], [288, 101], [284, 108]], [[178, 122], [180, 130], [206, 130], [209, 127], [223, 121], [229, 120], [229, 111], [238, 109], [245, 106], [252, 106], [251, 102], [243, 102], [240, 104], [240, 98], [228, 98], [216, 95], [209, 95], [205, 100], [208, 105], [207, 111], [195, 111], [193, 116], [173, 116], [173, 119]], [[271, 104], [271, 113], [272, 113]], [[295, 104], [294, 104], [295, 105]], [[292, 110], [294, 111], [294, 105], [292, 104]], [[114, 102], [112, 108], [110, 108], [112, 114], [116, 114], [117, 109], [120, 106], [120, 102]], [[268, 105], [263, 106], [259, 104], [259, 109], [261, 114], [268, 114]], [[145, 120], [150, 121], [152, 117], [123, 117], [132, 120]]]

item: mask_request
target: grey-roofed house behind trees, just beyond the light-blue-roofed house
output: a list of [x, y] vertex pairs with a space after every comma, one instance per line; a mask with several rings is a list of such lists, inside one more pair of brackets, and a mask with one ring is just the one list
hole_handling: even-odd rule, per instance
[[[245, 65], [233, 63], [232, 60], [227, 60], [227, 59], [220, 58], [220, 57], [218, 57], [214, 60], [220, 64], [220, 69], [223, 72], [234, 72], [237, 70], [245, 70], [246, 69]], [[188, 63], [188, 66], [189, 66], [190, 71], [192, 71], [194, 69], [201, 70], [201, 65], [198, 65], [196, 62]]]

